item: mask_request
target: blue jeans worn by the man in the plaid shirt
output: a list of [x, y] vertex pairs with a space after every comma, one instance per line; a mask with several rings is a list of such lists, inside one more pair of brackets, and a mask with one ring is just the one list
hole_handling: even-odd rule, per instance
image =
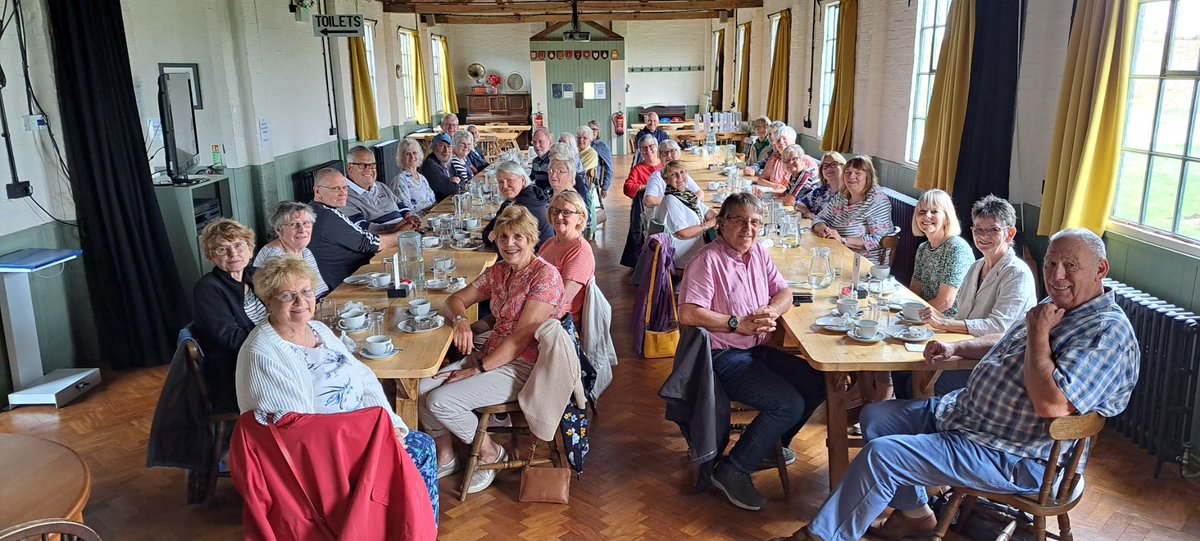
[[925, 505], [926, 486], [1006, 494], [1040, 487], [1042, 461], [984, 447], [958, 431], [937, 432], [937, 401], [884, 401], [863, 408], [866, 445], [809, 524], [812, 534], [826, 541], [857, 541], [884, 509], [908, 511]]

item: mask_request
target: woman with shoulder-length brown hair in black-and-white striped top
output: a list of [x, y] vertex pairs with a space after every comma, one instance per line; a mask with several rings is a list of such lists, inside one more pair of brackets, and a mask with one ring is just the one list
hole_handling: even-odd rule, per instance
[[874, 264], [883, 263], [880, 241], [892, 234], [892, 200], [880, 190], [870, 157], [846, 162], [841, 190], [812, 220], [812, 233], [840, 240]]

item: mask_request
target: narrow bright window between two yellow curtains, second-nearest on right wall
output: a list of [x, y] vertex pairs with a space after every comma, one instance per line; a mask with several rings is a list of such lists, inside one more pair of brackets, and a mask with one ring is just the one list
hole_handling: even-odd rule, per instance
[[917, 7], [912, 116], [908, 119], [908, 161], [913, 163], [920, 160], [920, 146], [925, 142], [929, 98], [934, 94], [937, 55], [942, 50], [942, 37], [946, 36], [946, 18], [949, 12], [950, 0], [920, 0], [920, 5]]

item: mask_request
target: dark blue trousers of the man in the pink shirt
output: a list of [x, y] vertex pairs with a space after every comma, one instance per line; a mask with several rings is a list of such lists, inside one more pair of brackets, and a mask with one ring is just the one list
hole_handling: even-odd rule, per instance
[[796, 355], [766, 345], [713, 350], [713, 372], [730, 399], [758, 416], [730, 451], [730, 463], [745, 473], [758, 469], [775, 441], [784, 446], [824, 402], [824, 377]]

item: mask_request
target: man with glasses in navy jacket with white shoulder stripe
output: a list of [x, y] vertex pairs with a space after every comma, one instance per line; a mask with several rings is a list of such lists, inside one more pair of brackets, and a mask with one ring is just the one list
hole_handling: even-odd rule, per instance
[[317, 259], [320, 277], [328, 284], [342, 283], [377, 252], [396, 246], [396, 234], [374, 234], [354, 223], [342, 209], [349, 198], [349, 182], [341, 172], [325, 168], [317, 172], [312, 190], [312, 226], [308, 251]]

